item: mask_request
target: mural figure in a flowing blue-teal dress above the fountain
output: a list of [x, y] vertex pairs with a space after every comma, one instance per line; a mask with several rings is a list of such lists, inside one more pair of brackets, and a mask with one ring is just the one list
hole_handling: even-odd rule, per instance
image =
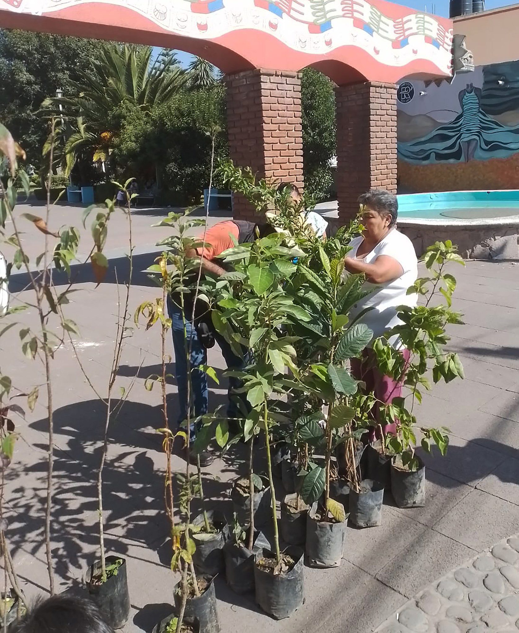
[[429, 134], [399, 143], [399, 158], [423, 165], [507, 158], [519, 151], [519, 126], [507, 127], [481, 109], [481, 89], [467, 84], [459, 92], [461, 112]]

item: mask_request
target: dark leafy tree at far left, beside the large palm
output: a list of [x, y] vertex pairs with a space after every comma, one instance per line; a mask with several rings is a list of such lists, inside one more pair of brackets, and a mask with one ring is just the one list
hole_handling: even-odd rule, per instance
[[48, 135], [48, 121], [36, 114], [42, 102], [56, 96], [56, 89], [70, 94], [99, 46], [77, 37], [0, 30], [0, 113], [29, 163], [39, 164]]

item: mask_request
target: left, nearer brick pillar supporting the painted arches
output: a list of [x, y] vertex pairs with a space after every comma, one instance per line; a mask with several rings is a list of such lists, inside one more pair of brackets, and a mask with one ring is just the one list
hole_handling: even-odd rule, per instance
[[[259, 177], [303, 187], [299, 73], [250, 70], [227, 75], [227, 128], [235, 165]], [[253, 219], [245, 198], [234, 196], [234, 217]]]

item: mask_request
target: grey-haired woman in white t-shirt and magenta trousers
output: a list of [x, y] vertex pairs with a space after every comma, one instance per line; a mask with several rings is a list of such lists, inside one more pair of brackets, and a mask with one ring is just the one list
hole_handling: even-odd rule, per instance
[[[364, 286], [372, 292], [355, 304], [350, 316], [353, 319], [365, 308], [373, 308], [361, 320], [373, 330], [376, 339], [401, 323], [397, 317], [398, 306], [416, 306], [416, 294], [407, 294], [407, 289], [418, 277], [418, 260], [409, 237], [396, 228], [398, 201], [394, 194], [385, 189], [370, 189], [359, 198], [359, 203], [364, 207], [364, 230], [361, 237], [350, 242], [352, 250], [344, 265], [350, 273], [364, 273]], [[389, 342], [409, 360], [409, 351], [398, 336], [390, 337]], [[385, 404], [402, 395], [404, 377], [394, 380], [382, 375], [369, 348], [364, 350], [361, 359], [352, 359], [351, 370], [357, 380], [366, 382], [366, 391], [374, 392]], [[395, 432], [395, 425], [385, 427], [385, 432]]]

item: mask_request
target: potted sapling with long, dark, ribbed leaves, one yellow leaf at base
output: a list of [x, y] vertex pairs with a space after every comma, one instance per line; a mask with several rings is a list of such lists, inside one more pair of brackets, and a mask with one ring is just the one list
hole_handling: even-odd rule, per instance
[[362, 296], [362, 276], [343, 276], [345, 252], [338, 248], [330, 260], [323, 249], [321, 275], [300, 263], [298, 287], [295, 287], [302, 301], [307, 302], [310, 297], [314, 304], [310, 324], [324, 341], [320, 347], [316, 345], [317, 354], [304, 377], [305, 385], [321, 399], [325, 410], [324, 429], [315, 424], [312, 424], [314, 429], [307, 425], [309, 435], [314, 434], [316, 439], [321, 436], [324, 459], [307, 473], [301, 487], [302, 497], [312, 506], [307, 516], [305, 544], [307, 564], [312, 567], [338, 567], [342, 560], [347, 515], [342, 503], [330, 494], [332, 457], [340, 446], [346, 447], [347, 475], [356, 486], [354, 441], [358, 439], [358, 433], [356, 436], [352, 429], [356, 410], [350, 403], [357, 393], [357, 381], [345, 362], [360, 354], [373, 337], [363, 323], [349, 322], [348, 312]]

